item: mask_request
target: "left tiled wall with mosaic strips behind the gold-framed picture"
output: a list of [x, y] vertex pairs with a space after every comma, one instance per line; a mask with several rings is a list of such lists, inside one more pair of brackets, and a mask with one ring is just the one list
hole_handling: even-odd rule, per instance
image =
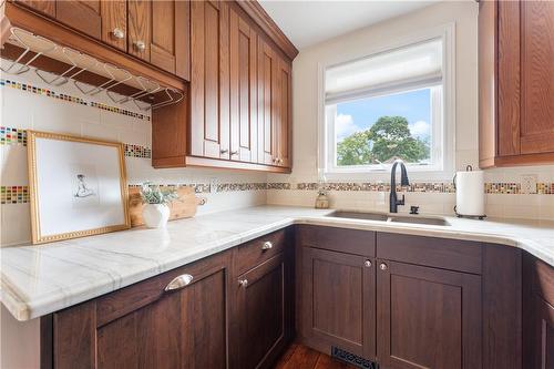
[[198, 214], [266, 202], [266, 174], [151, 166], [150, 112], [133, 102], [113, 103], [104, 92], [86, 96], [73, 82], [49, 86], [34, 71], [0, 75], [1, 245], [30, 240], [30, 204], [24, 130], [64, 133], [125, 143], [130, 184], [193, 185], [207, 198]]

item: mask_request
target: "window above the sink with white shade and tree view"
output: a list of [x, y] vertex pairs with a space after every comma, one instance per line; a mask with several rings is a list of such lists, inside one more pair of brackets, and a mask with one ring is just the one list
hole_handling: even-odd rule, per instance
[[324, 70], [325, 173], [388, 171], [397, 158], [410, 171], [449, 168], [445, 40], [434, 35]]

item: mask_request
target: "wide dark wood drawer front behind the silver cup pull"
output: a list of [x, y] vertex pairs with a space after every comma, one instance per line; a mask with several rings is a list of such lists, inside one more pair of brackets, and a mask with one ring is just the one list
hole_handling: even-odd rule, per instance
[[165, 287], [181, 275], [191, 275], [193, 277], [191, 285], [194, 285], [206, 276], [226, 268], [230, 264], [229, 255], [229, 253], [216, 254], [99, 297], [96, 301], [98, 326], [107, 324], [160, 299], [164, 294], [167, 294]]

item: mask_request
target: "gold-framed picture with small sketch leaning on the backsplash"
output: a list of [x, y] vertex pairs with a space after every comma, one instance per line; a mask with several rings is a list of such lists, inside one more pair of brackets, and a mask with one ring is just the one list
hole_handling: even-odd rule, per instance
[[122, 143], [27, 134], [33, 244], [131, 227]]

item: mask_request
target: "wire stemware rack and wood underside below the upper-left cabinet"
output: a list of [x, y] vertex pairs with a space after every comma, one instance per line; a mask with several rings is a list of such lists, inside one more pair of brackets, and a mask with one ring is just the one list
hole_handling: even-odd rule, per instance
[[12, 27], [2, 50], [0, 70], [21, 74], [33, 70], [44, 83], [60, 86], [72, 81], [85, 95], [101, 92], [116, 104], [132, 101], [140, 110], [155, 110], [181, 102], [184, 92], [134, 75], [76, 50]]

